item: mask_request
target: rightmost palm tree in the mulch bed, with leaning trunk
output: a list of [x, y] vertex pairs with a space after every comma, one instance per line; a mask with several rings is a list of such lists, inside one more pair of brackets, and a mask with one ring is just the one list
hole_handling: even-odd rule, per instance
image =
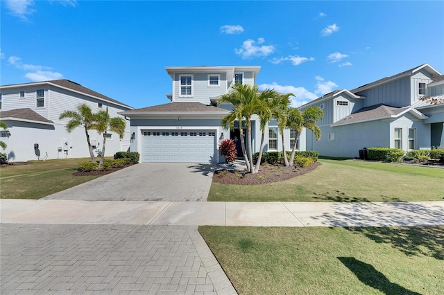
[[[314, 136], [316, 136], [316, 141], [321, 138], [321, 129], [316, 125], [319, 119], [324, 117], [324, 112], [320, 107], [308, 107], [305, 111], [300, 111], [296, 108], [290, 108], [289, 118], [287, 127], [294, 129], [296, 131], [295, 139], [299, 137], [300, 132], [302, 132], [302, 127], [310, 129]], [[293, 166], [294, 155], [296, 154], [297, 141], [295, 140], [289, 161], [289, 166]]]

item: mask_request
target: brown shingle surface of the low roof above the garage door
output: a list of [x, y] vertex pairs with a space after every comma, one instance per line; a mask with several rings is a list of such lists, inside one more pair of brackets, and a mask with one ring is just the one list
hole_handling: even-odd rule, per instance
[[[130, 112], [227, 112], [225, 109], [205, 105], [202, 102], [169, 102], [164, 105], [153, 107], [143, 107], [142, 109], [132, 109]], [[124, 113], [124, 112], [123, 112]]]

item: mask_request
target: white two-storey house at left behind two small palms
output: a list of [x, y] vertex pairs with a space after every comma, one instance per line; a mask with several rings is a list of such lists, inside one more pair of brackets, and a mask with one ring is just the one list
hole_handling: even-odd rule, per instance
[[[0, 120], [8, 125], [8, 130], [2, 130], [0, 135], [8, 147], [0, 152], [8, 154], [9, 161], [89, 157], [85, 129], [78, 127], [68, 133], [65, 125], [69, 119], [59, 120], [63, 111], [76, 111], [84, 102], [93, 112], [108, 107], [112, 117], [120, 116], [120, 111], [133, 109], [69, 80], [0, 86]], [[99, 152], [103, 134], [91, 130], [89, 135]], [[112, 132], [105, 136], [108, 138], [105, 156], [128, 150], [129, 120], [122, 141]]]

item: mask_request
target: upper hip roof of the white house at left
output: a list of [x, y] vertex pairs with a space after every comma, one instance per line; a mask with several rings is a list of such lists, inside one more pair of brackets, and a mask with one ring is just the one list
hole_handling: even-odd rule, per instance
[[112, 102], [115, 105], [120, 105], [121, 107], [126, 107], [128, 109], [133, 109], [133, 107], [130, 107], [129, 105], [125, 105], [122, 102], [119, 102], [118, 100], [114, 100], [112, 98], [109, 98], [108, 96], [104, 96], [103, 94], [96, 92], [94, 90], [91, 90], [87, 87], [83, 87], [82, 85], [67, 80], [67, 79], [60, 79], [60, 80], [49, 80], [49, 81], [42, 81], [42, 82], [31, 82], [31, 83], [23, 83], [23, 84], [10, 84], [10, 85], [3, 85], [0, 87], [0, 89], [8, 89], [8, 88], [16, 88], [16, 87], [26, 87], [26, 86], [38, 86], [42, 84], [49, 84], [58, 88], [62, 89], [68, 89], [69, 91], [74, 91], [77, 93], [82, 93], [86, 96], [96, 98], [99, 100], [103, 100], [105, 102]]

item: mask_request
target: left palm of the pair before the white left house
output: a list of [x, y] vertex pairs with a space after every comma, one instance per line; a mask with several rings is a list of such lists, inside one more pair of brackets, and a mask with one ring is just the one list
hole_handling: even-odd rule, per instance
[[91, 156], [91, 161], [95, 162], [96, 158], [94, 157], [94, 152], [92, 152], [91, 141], [89, 141], [88, 130], [91, 129], [92, 124], [94, 123], [94, 115], [92, 114], [91, 108], [83, 103], [82, 105], [77, 106], [77, 111], [64, 111], [60, 114], [59, 119], [70, 118], [65, 128], [67, 132], [71, 133], [77, 127], [83, 126], [85, 128], [86, 141], [88, 143], [89, 155]]

